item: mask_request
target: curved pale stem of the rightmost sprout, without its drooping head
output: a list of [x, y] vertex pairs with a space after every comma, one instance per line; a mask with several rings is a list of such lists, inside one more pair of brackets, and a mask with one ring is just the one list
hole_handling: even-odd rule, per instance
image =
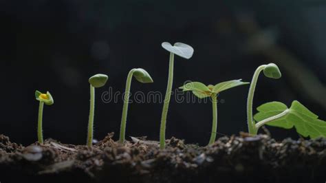
[[248, 122], [248, 132], [251, 135], [257, 135], [257, 128], [255, 127], [254, 119], [252, 118], [252, 101], [254, 99], [254, 90], [256, 89], [257, 80], [260, 72], [265, 68], [266, 65], [259, 66], [254, 72], [252, 81], [249, 88], [248, 100], [247, 100], [247, 122]]

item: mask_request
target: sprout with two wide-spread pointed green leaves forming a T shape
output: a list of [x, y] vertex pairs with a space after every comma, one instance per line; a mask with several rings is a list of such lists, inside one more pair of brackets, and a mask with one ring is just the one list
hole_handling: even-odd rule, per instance
[[216, 131], [217, 131], [217, 96], [220, 92], [230, 89], [232, 87], [237, 87], [240, 85], [247, 85], [248, 82], [242, 82], [241, 79], [238, 80], [228, 80], [222, 83], [218, 83], [217, 85], [204, 85], [203, 83], [199, 82], [191, 82], [186, 83], [180, 87], [183, 89], [184, 92], [191, 91], [195, 96], [198, 98], [206, 98], [210, 97], [212, 99], [213, 104], [213, 125], [212, 125], [212, 133], [210, 133], [210, 140], [208, 145], [213, 144], [216, 138]]

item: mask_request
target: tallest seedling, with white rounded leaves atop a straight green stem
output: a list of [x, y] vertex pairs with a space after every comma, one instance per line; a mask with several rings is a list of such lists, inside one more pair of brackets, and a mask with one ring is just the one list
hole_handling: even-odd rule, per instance
[[170, 52], [170, 63], [169, 63], [169, 79], [168, 86], [166, 87], [166, 94], [164, 98], [164, 105], [162, 109], [161, 127], [160, 127], [160, 149], [165, 148], [165, 129], [166, 129], [166, 116], [169, 111], [169, 103], [171, 99], [172, 85], [173, 85], [173, 65], [174, 65], [174, 54], [181, 56], [182, 58], [189, 59], [193, 56], [193, 47], [184, 43], [162, 43], [162, 47]]

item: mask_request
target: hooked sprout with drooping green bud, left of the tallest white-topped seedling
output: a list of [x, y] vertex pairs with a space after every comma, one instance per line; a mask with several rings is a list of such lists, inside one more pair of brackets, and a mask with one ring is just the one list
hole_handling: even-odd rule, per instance
[[131, 87], [131, 79], [135, 77], [140, 83], [153, 83], [153, 79], [149, 76], [149, 73], [146, 72], [144, 69], [131, 69], [127, 77], [126, 83], [126, 91], [124, 93], [124, 101], [123, 101], [123, 109], [122, 109], [122, 119], [121, 119], [121, 126], [120, 126], [120, 138], [119, 142], [123, 143], [126, 133], [126, 123], [127, 123], [127, 111], [128, 111], [128, 104], [129, 104], [129, 96], [130, 96], [130, 87]]

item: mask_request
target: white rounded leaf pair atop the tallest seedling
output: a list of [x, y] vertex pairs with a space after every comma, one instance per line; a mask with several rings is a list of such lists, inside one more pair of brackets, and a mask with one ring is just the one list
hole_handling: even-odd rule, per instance
[[184, 43], [175, 43], [174, 45], [171, 45], [168, 42], [164, 42], [162, 43], [162, 47], [173, 54], [181, 56], [182, 58], [189, 59], [191, 56], [193, 56], [193, 47]]

